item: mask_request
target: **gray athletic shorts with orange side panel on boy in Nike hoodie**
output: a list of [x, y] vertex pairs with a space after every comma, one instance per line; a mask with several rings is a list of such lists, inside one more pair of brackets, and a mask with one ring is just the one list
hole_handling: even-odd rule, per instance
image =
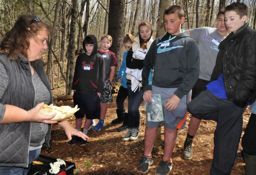
[[166, 100], [168, 100], [171, 96], [174, 95], [174, 92], [177, 88], [160, 88], [156, 86], [152, 86], [153, 94], [160, 94], [162, 107], [163, 107], [163, 117], [164, 121], [161, 122], [146, 122], [146, 127], [148, 128], [156, 128], [162, 125], [165, 125], [168, 129], [184, 129], [187, 119], [187, 103], [191, 97], [191, 91], [185, 95], [177, 108], [174, 111], [168, 111], [165, 109]]

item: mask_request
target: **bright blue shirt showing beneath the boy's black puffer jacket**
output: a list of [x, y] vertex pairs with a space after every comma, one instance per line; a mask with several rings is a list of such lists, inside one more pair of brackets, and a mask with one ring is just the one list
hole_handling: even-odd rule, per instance
[[206, 85], [206, 88], [210, 90], [215, 96], [221, 99], [228, 99], [225, 86], [224, 86], [223, 74], [221, 74], [218, 77], [218, 79]]

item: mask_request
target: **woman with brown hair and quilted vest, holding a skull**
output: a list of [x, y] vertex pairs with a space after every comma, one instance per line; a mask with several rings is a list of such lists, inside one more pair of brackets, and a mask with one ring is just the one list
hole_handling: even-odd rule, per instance
[[87, 139], [66, 119], [52, 121], [56, 114], [39, 112], [44, 103], [53, 103], [41, 60], [49, 30], [38, 17], [22, 15], [0, 44], [0, 175], [26, 175], [41, 147], [49, 146], [53, 123], [69, 140], [71, 135]]

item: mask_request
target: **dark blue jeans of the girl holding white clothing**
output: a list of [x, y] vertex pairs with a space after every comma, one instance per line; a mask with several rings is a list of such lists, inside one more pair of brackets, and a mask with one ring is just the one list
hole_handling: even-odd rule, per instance
[[139, 107], [143, 101], [143, 90], [138, 88], [135, 92], [128, 86], [128, 128], [139, 128], [140, 112]]

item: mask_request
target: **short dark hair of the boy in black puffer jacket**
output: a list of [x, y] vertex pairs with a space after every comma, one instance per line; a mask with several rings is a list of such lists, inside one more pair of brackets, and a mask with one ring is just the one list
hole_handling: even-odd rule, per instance
[[237, 14], [240, 16], [240, 19], [248, 14], [248, 7], [245, 3], [243, 2], [233, 2], [230, 5], [226, 6], [225, 12], [226, 11], [235, 11]]

